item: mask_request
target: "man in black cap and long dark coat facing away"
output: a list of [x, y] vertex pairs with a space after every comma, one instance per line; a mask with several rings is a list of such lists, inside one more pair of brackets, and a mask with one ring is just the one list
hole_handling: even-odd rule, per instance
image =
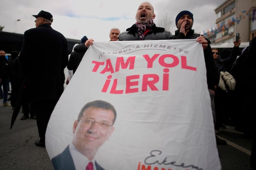
[[64, 91], [68, 50], [66, 38], [51, 27], [52, 14], [40, 11], [33, 16], [36, 28], [25, 31], [19, 60], [27, 76], [29, 100], [37, 119], [40, 140], [35, 144], [45, 147], [49, 118]]

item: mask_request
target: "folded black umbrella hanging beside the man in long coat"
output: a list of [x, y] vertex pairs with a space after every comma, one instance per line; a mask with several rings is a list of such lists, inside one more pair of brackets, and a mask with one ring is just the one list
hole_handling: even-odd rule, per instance
[[15, 107], [13, 109], [10, 129], [12, 129], [12, 126], [18, 116], [18, 113], [20, 112], [20, 107], [23, 103], [23, 100], [27, 98], [27, 95], [28, 95], [27, 81], [26, 81], [26, 79], [24, 79], [20, 86], [20, 91], [19, 91], [17, 100], [15, 102]]

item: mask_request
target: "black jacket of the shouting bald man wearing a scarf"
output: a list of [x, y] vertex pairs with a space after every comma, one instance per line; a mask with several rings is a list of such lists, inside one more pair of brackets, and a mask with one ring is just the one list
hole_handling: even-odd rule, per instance
[[[126, 31], [122, 32], [118, 36], [119, 41], [131, 41], [140, 40], [140, 36], [137, 31], [136, 24], [127, 28]], [[155, 24], [151, 30], [145, 34], [144, 40], [172, 40], [173, 36], [170, 31], [166, 31], [164, 28], [157, 27]]]

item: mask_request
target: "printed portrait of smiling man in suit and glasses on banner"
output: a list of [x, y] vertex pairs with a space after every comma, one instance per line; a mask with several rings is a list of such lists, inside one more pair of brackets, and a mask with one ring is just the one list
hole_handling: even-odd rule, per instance
[[110, 103], [85, 104], [73, 124], [72, 143], [52, 158], [55, 170], [104, 170], [94, 156], [113, 133], [115, 120], [116, 110]]

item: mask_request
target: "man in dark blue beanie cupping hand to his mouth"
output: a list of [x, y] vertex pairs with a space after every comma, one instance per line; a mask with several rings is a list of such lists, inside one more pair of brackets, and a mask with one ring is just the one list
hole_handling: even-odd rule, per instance
[[[201, 34], [196, 34], [195, 31], [192, 29], [194, 18], [193, 18], [193, 14], [190, 11], [181, 11], [179, 14], [177, 14], [175, 23], [176, 23], [176, 27], [178, 28], [175, 31], [175, 36], [182, 37], [183, 39], [195, 39], [201, 36]], [[207, 72], [207, 85], [208, 85], [211, 104], [212, 104], [212, 115], [213, 115], [214, 124], [215, 124], [214, 96], [215, 96], [215, 87], [219, 83], [219, 76], [218, 76], [218, 71], [212, 55], [212, 50], [210, 46], [211, 42], [207, 38], [205, 39], [208, 41], [208, 46], [207, 48], [204, 49], [204, 60], [205, 60], [206, 72]], [[216, 136], [216, 143], [227, 144], [225, 140], [218, 138], [218, 136]]]

